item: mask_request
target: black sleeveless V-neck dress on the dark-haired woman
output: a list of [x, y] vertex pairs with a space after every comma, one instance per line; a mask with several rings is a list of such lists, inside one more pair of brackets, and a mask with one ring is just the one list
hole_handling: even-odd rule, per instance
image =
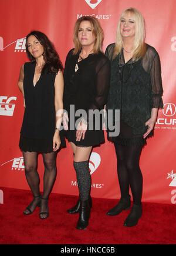
[[[25, 113], [23, 116], [19, 148], [29, 152], [53, 152], [55, 134], [55, 77], [56, 73], [41, 74], [33, 86], [36, 62], [24, 65], [23, 89], [25, 94]], [[61, 145], [65, 140], [60, 136]]]

